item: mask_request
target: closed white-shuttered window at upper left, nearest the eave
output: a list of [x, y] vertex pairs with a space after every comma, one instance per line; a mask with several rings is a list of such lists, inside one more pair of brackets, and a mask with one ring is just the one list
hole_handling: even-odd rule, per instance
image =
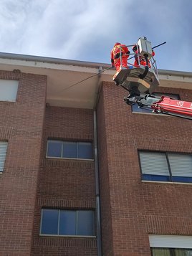
[[0, 80], [0, 101], [16, 101], [18, 80]]

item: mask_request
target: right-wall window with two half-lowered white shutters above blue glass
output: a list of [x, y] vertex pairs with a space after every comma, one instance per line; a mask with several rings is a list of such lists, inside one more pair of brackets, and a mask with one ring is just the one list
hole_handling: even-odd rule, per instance
[[192, 155], [139, 151], [142, 179], [192, 183]]

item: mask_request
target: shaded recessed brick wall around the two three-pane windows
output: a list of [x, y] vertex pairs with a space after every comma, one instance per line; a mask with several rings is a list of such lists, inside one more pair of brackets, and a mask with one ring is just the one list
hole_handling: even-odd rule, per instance
[[94, 161], [46, 158], [47, 139], [93, 141], [93, 111], [46, 108], [32, 255], [97, 255], [96, 238], [39, 237], [41, 209], [95, 209]]

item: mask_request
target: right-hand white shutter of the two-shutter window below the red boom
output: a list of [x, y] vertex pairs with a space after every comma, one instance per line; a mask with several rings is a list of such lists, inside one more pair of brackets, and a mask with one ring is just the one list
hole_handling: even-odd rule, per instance
[[173, 176], [192, 177], [192, 156], [189, 154], [168, 153]]

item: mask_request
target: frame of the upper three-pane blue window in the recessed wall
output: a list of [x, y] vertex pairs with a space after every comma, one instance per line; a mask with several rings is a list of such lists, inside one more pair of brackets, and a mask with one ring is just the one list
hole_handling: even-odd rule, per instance
[[[61, 149], [61, 156], [48, 156], [48, 146], [49, 146], [49, 141], [51, 142], [60, 142], [62, 143], [62, 149]], [[73, 158], [73, 157], [63, 157], [63, 148], [64, 148], [64, 143], [77, 143], [77, 158]], [[92, 158], [78, 158], [78, 148], [79, 148], [79, 144], [80, 143], [90, 143], [90, 146], [92, 148], [92, 142], [91, 141], [62, 141], [62, 140], [57, 140], [57, 139], [52, 139], [52, 138], [48, 138], [47, 139], [47, 149], [46, 149], [46, 158], [56, 158], [56, 159], [68, 159], [68, 160], [86, 160], [86, 161], [94, 161], [94, 156], [93, 156], [93, 149], [91, 151], [92, 154]]]

